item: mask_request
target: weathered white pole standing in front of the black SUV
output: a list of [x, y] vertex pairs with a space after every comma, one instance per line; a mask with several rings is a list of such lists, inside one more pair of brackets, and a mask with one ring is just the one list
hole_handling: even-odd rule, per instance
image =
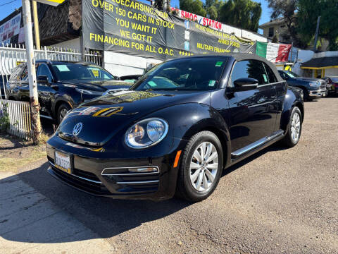
[[32, 18], [30, 14], [30, 0], [23, 1], [23, 24], [25, 26], [25, 44], [27, 55], [28, 80], [30, 84], [30, 111], [33, 131], [33, 143], [38, 144], [41, 137], [41, 123], [39, 114], [39, 99], [37, 97], [37, 75], [35, 73], [35, 59], [33, 48]]

